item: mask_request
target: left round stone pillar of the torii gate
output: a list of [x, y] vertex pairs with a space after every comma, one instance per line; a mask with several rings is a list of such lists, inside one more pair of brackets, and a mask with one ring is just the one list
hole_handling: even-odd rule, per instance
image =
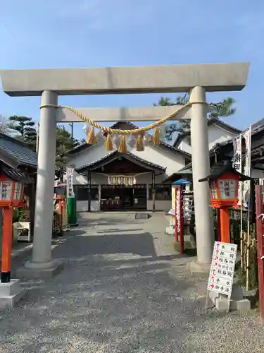
[[[58, 104], [56, 92], [44, 91], [42, 105]], [[54, 213], [54, 174], [56, 155], [56, 116], [54, 107], [44, 107], [40, 112], [37, 189], [34, 215], [34, 241], [32, 261], [26, 268], [42, 270], [51, 268], [51, 234]]]

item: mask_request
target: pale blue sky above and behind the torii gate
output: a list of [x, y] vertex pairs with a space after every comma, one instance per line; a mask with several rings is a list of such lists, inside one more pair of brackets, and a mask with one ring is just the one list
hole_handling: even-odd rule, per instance
[[[238, 128], [263, 117], [264, 2], [255, 0], [12, 0], [0, 12], [0, 68], [67, 68], [250, 61], [237, 101]], [[161, 95], [61, 97], [73, 107], [152, 105]], [[170, 95], [169, 95], [170, 96]], [[175, 97], [176, 95], [171, 95]], [[39, 97], [0, 92], [0, 114], [39, 119]], [[82, 124], [75, 136], [84, 137]]]

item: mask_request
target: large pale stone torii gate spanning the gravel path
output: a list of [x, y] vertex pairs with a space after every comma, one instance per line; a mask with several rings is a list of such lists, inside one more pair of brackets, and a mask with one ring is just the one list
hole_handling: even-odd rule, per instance
[[[3, 90], [12, 97], [42, 96], [37, 169], [37, 195], [32, 261], [21, 269], [24, 275], [42, 276], [60, 265], [51, 257], [56, 123], [82, 121], [73, 112], [49, 107], [59, 95], [107, 95], [132, 93], [189, 92], [190, 102], [200, 102], [180, 112], [175, 119], [191, 119], [192, 169], [196, 220], [197, 262], [192, 272], [208, 271], [213, 249], [213, 221], [207, 183], [209, 174], [206, 92], [239, 91], [246, 85], [249, 63], [105, 68], [3, 70]], [[157, 121], [176, 107], [77, 109], [94, 121]]]

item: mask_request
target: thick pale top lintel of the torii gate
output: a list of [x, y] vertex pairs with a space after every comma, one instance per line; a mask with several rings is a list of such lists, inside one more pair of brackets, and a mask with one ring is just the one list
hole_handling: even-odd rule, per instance
[[202, 86], [208, 92], [239, 91], [246, 85], [249, 62], [101, 68], [1, 70], [3, 90], [10, 96], [105, 95], [187, 92]]

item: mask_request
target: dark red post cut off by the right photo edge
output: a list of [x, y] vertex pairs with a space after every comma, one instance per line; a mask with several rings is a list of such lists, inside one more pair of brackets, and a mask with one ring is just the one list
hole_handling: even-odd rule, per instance
[[263, 247], [263, 186], [256, 186], [256, 233], [258, 247], [258, 292], [260, 323], [264, 325], [264, 247]]

